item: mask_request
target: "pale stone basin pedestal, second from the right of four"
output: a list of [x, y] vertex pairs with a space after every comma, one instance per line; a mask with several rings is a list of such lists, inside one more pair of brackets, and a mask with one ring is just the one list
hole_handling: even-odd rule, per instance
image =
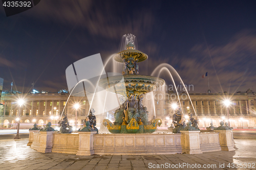
[[180, 131], [183, 135], [182, 145], [186, 154], [202, 154], [200, 150], [200, 131]]

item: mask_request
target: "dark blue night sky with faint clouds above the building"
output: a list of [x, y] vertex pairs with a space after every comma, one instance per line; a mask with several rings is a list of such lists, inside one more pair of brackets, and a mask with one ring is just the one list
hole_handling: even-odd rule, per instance
[[[2, 3], [0, 3], [2, 4]], [[68, 89], [65, 70], [97, 53], [117, 53], [124, 34], [148, 55], [140, 74], [172, 65], [194, 91], [256, 89], [256, 1], [41, 1], [6, 17], [0, 7], [4, 89]], [[109, 64], [106, 71], [111, 72]], [[172, 72], [174, 74], [174, 72]], [[172, 84], [166, 71], [160, 74]], [[174, 74], [174, 77], [177, 76]], [[178, 79], [177, 84], [180, 84]]]

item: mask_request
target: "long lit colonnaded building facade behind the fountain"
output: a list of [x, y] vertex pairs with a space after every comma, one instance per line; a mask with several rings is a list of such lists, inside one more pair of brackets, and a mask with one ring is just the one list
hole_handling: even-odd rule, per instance
[[[229, 117], [230, 125], [234, 128], [256, 128], [255, 93], [189, 93], [189, 96], [185, 93], [179, 94], [179, 103], [178, 96], [172, 92], [155, 91], [146, 94], [143, 104], [149, 111], [148, 119], [152, 119], [155, 115], [156, 118], [162, 119], [163, 127], [169, 127], [172, 124], [172, 115], [177, 111], [173, 105], [177, 104], [181, 105], [184, 114], [193, 113], [194, 116], [198, 116], [199, 127], [208, 127], [211, 122], [217, 127], [221, 120], [227, 121]], [[82, 126], [83, 120], [89, 113], [89, 102], [86, 98], [71, 97], [66, 103], [68, 97], [67, 93], [2, 94], [3, 109], [0, 112], [2, 127], [0, 128], [15, 128], [16, 117], [20, 117], [21, 128], [32, 127], [34, 123], [39, 126], [44, 126], [48, 122], [57, 125], [62, 112], [67, 114], [70, 124], [74, 125], [75, 103], [80, 105], [77, 111], [77, 122]], [[23, 106], [18, 106], [18, 99], [24, 99]], [[228, 107], [223, 103], [225, 100], [230, 101]], [[100, 113], [97, 108], [94, 109], [97, 127], [104, 118], [114, 122], [112, 111]]]

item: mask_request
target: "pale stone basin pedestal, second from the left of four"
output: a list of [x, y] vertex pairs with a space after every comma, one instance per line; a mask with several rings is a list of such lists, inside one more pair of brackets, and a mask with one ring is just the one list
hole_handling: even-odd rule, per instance
[[94, 134], [97, 132], [78, 132], [79, 147], [76, 155], [93, 155], [93, 140]]

